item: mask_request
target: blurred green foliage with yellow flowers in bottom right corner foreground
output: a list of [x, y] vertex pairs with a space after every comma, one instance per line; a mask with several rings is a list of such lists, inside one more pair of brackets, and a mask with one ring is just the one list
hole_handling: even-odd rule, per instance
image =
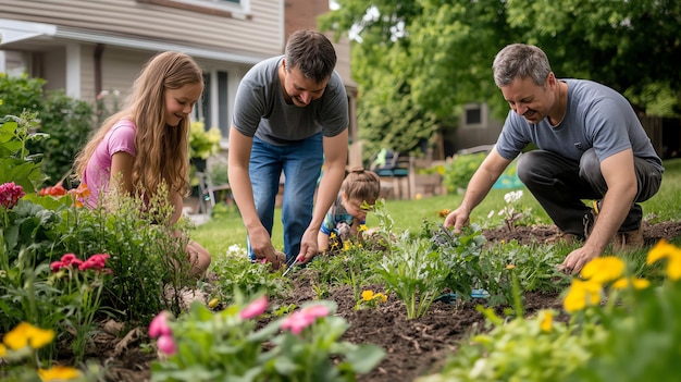
[[417, 381], [676, 380], [681, 249], [663, 239], [649, 250], [646, 263], [653, 266], [652, 275], [660, 272], [666, 280], [653, 286], [615, 256], [590, 261], [565, 294], [569, 320], [555, 321], [555, 310], [523, 317], [515, 283], [516, 317], [503, 319], [480, 307], [493, 329], [463, 341], [443, 372]]

